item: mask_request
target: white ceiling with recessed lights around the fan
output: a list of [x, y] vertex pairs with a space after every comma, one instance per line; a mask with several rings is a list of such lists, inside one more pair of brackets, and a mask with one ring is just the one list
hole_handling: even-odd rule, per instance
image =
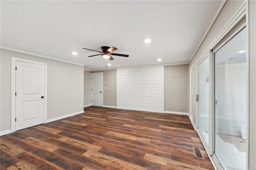
[[[1, 45], [91, 70], [190, 61], [220, 1], [1, 1]], [[144, 43], [150, 38], [151, 43]], [[129, 54], [87, 57], [101, 46]], [[76, 51], [78, 55], [71, 53]], [[157, 61], [161, 58], [162, 61]]]

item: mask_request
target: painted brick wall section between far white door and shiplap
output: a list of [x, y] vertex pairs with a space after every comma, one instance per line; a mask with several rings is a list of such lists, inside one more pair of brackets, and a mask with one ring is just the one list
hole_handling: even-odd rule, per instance
[[91, 71], [91, 73], [103, 73], [103, 105], [116, 107], [116, 70]]

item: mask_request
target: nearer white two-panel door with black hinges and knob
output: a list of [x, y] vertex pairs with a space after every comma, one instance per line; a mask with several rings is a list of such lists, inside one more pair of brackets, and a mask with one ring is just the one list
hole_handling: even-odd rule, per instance
[[16, 61], [16, 130], [44, 123], [44, 69]]

